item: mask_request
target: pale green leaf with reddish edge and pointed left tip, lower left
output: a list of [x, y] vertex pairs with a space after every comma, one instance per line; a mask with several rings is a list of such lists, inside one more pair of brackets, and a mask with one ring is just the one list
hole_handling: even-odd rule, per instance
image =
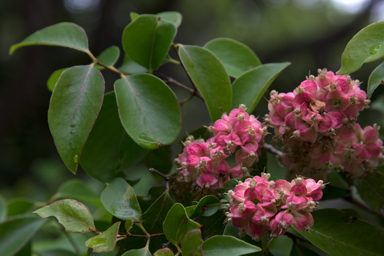
[[85, 233], [95, 230], [91, 212], [84, 204], [76, 200], [55, 201], [34, 211], [34, 213], [42, 218], [55, 217], [67, 232]]

